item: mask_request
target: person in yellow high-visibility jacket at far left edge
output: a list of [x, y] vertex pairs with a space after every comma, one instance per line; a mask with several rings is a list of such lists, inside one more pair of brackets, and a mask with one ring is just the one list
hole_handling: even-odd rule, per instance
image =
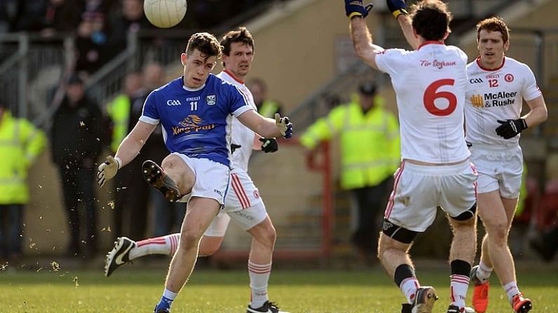
[[46, 145], [46, 135], [25, 118], [15, 118], [0, 99], [0, 259], [22, 253], [23, 208], [29, 202], [27, 173]]

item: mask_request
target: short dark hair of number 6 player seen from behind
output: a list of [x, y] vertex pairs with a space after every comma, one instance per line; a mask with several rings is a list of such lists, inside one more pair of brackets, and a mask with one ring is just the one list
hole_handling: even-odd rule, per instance
[[450, 32], [449, 23], [453, 19], [447, 4], [439, 0], [416, 2], [411, 6], [410, 16], [417, 34], [427, 41], [443, 40], [446, 32]]

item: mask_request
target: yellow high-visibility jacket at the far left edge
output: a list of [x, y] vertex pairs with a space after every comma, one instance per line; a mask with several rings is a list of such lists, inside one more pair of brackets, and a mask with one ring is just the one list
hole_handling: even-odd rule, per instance
[[4, 111], [0, 120], [0, 204], [29, 202], [27, 172], [46, 146], [46, 135]]

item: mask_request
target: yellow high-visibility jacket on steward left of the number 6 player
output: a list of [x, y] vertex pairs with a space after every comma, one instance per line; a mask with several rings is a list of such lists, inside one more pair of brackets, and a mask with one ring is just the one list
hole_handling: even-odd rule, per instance
[[383, 109], [383, 98], [366, 114], [357, 101], [337, 106], [319, 118], [300, 137], [300, 144], [316, 147], [320, 141], [339, 138], [341, 188], [376, 186], [399, 167], [399, 123]]

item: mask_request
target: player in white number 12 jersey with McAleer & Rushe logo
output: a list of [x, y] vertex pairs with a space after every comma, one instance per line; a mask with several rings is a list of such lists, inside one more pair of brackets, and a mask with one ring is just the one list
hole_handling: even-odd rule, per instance
[[[522, 182], [523, 154], [519, 133], [547, 118], [545, 100], [526, 64], [505, 56], [510, 46], [507, 26], [500, 18], [477, 24], [479, 57], [467, 65], [465, 134], [477, 167], [477, 207], [486, 228], [480, 264], [473, 267], [472, 302], [484, 313], [489, 276], [496, 271], [515, 312], [528, 312], [531, 300], [517, 287], [514, 260], [507, 237]], [[529, 113], [521, 115], [523, 100]]]

